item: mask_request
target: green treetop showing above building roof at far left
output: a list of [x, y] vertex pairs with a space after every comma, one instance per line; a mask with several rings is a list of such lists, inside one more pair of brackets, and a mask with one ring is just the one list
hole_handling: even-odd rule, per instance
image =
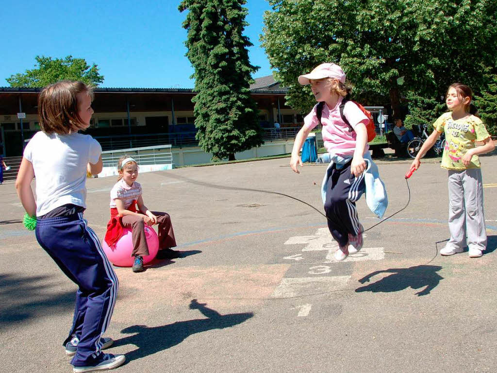
[[24, 74], [11, 75], [6, 81], [10, 87], [44, 87], [60, 80], [80, 80], [97, 86], [103, 82], [96, 64], [89, 66], [83, 58], [67, 56], [64, 59], [36, 56], [35, 68]]

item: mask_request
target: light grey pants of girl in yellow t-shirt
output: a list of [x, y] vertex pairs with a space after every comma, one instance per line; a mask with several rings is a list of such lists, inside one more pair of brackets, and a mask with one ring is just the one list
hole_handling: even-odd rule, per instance
[[464, 248], [467, 235], [468, 247], [487, 247], [480, 169], [449, 170], [449, 230], [447, 245]]

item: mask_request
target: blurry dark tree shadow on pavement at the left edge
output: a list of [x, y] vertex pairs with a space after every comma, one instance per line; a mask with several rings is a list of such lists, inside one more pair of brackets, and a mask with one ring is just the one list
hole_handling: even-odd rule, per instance
[[60, 292], [60, 282], [50, 280], [51, 276], [0, 275], [0, 328], [73, 311], [76, 291]]

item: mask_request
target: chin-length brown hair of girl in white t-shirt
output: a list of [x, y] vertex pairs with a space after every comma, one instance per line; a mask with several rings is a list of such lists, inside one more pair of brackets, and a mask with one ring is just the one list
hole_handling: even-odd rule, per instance
[[62, 80], [43, 88], [38, 95], [38, 115], [40, 128], [46, 134], [67, 135], [77, 129], [83, 129], [78, 113], [78, 93], [86, 92], [93, 100], [93, 87], [83, 82]]

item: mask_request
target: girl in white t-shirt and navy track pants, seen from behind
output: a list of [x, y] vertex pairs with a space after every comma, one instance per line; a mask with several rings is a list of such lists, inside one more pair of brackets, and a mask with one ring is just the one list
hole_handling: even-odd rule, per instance
[[[95, 232], [83, 219], [86, 172], [102, 170], [102, 148], [89, 135], [93, 94], [83, 82], [61, 81], [38, 96], [37, 132], [24, 149], [15, 187], [29, 215], [36, 215], [36, 239], [64, 274], [78, 286], [76, 309], [64, 341], [74, 372], [109, 370], [124, 355], [101, 352], [102, 338], [117, 297], [118, 281]], [[36, 177], [36, 201], [31, 189]]]

